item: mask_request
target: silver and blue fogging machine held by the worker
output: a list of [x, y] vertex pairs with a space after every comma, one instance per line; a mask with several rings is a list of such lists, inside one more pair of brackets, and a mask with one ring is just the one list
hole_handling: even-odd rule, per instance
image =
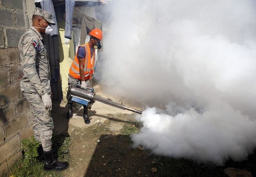
[[108, 100], [107, 98], [103, 98], [100, 95], [95, 95], [95, 93], [93, 92], [93, 89], [90, 89], [88, 87], [86, 88], [86, 90], [72, 87], [70, 90], [70, 93], [72, 96], [72, 101], [78, 102], [82, 105], [88, 105], [94, 101], [99, 101], [99, 102], [102, 102], [102, 103], [110, 105], [110, 106], [118, 107], [118, 108], [124, 109], [124, 110], [126, 109], [126, 110], [129, 110], [132, 112], [136, 112], [138, 114], [142, 114], [142, 111], [140, 111], [140, 110], [133, 109], [133, 108], [123, 105], [119, 102], [114, 102], [114, 101]]

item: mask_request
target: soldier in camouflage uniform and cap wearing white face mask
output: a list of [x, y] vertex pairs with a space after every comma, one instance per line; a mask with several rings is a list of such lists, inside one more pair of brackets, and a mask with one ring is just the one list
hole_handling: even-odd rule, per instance
[[42, 34], [50, 34], [51, 25], [55, 25], [52, 14], [36, 8], [33, 14], [33, 27], [19, 40], [19, 55], [24, 76], [21, 79], [21, 91], [30, 103], [33, 114], [33, 133], [40, 142], [45, 155], [45, 170], [64, 170], [67, 162], [59, 162], [53, 156], [52, 129], [50, 115], [52, 109], [50, 87], [50, 65]]

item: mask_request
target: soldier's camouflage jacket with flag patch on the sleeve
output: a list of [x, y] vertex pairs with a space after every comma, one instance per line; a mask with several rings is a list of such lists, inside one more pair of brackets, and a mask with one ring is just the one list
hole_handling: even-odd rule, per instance
[[43, 37], [31, 27], [19, 40], [19, 56], [24, 76], [21, 91], [43, 95], [51, 92], [50, 66]]

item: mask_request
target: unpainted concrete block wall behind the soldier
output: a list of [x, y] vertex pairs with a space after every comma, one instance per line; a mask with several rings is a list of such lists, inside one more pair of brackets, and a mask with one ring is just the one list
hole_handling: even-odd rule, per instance
[[31, 137], [32, 115], [20, 91], [18, 43], [32, 25], [34, 0], [0, 0], [0, 177], [21, 158], [21, 140]]

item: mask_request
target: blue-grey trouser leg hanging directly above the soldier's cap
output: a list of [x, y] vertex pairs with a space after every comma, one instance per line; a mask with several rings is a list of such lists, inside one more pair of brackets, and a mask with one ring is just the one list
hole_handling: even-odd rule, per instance
[[55, 10], [54, 10], [53, 4], [52, 4], [52, 0], [43, 0], [40, 2], [40, 5], [41, 5], [42, 9], [44, 9], [47, 12], [49, 12], [50, 14], [52, 14], [52, 19], [53, 19], [55, 25], [52, 25], [52, 32], [50, 35], [51, 36], [59, 35], [59, 30], [58, 30], [58, 26], [57, 26]]

